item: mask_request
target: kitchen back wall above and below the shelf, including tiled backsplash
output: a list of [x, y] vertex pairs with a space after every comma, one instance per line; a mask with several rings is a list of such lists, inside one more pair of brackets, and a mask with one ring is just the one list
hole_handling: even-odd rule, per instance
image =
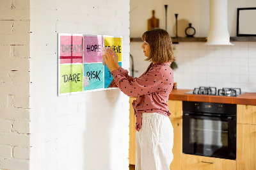
[[[187, 19], [196, 29], [195, 36], [207, 36], [209, 30], [209, 1], [131, 1], [131, 38], [141, 37], [147, 31], [147, 19], [156, 10], [160, 27], [165, 28], [164, 4], [168, 4], [168, 33], [174, 36], [171, 28], [175, 25], [174, 13], [178, 19]], [[255, 7], [256, 1], [228, 1], [228, 30], [236, 36], [236, 8]], [[170, 8], [169, 8], [170, 7]], [[142, 10], [143, 9], [143, 10]], [[208, 9], [208, 10], [207, 10]], [[158, 15], [158, 16], [157, 16]], [[169, 17], [170, 15], [170, 17]], [[140, 16], [140, 17], [138, 17]], [[173, 17], [172, 17], [173, 16]], [[178, 32], [179, 33], [179, 32]], [[142, 42], [131, 42], [134, 58], [134, 73], [138, 77], [148, 63], [141, 50]], [[234, 46], [205, 46], [204, 42], [180, 42], [174, 44], [175, 58], [179, 68], [174, 71], [174, 79], [180, 89], [193, 89], [199, 86], [217, 88], [241, 88], [244, 92], [256, 91], [256, 42], [232, 42]]]

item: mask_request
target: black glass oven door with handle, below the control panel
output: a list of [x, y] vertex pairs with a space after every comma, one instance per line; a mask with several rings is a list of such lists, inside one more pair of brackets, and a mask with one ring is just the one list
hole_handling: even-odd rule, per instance
[[236, 159], [236, 117], [183, 114], [183, 153]]

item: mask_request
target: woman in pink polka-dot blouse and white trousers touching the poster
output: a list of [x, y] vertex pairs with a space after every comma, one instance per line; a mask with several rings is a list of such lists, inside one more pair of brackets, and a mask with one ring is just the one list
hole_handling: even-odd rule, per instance
[[132, 78], [113, 59], [108, 49], [103, 58], [113, 75], [109, 86], [117, 86], [125, 95], [137, 97], [132, 106], [136, 115], [136, 169], [170, 169], [173, 160], [173, 127], [167, 101], [173, 87], [174, 61], [172, 40], [163, 29], [146, 31], [141, 45], [145, 61], [150, 61], [145, 73]]

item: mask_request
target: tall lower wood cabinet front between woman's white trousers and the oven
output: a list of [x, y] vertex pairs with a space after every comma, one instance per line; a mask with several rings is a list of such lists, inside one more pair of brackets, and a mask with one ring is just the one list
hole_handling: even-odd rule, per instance
[[170, 170], [181, 169], [182, 156], [182, 119], [170, 118], [173, 126], [173, 160]]

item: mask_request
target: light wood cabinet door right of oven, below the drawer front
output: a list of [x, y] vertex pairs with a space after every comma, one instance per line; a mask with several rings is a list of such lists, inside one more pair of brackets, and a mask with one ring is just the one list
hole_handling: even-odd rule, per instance
[[256, 169], [256, 125], [237, 124], [237, 170]]

